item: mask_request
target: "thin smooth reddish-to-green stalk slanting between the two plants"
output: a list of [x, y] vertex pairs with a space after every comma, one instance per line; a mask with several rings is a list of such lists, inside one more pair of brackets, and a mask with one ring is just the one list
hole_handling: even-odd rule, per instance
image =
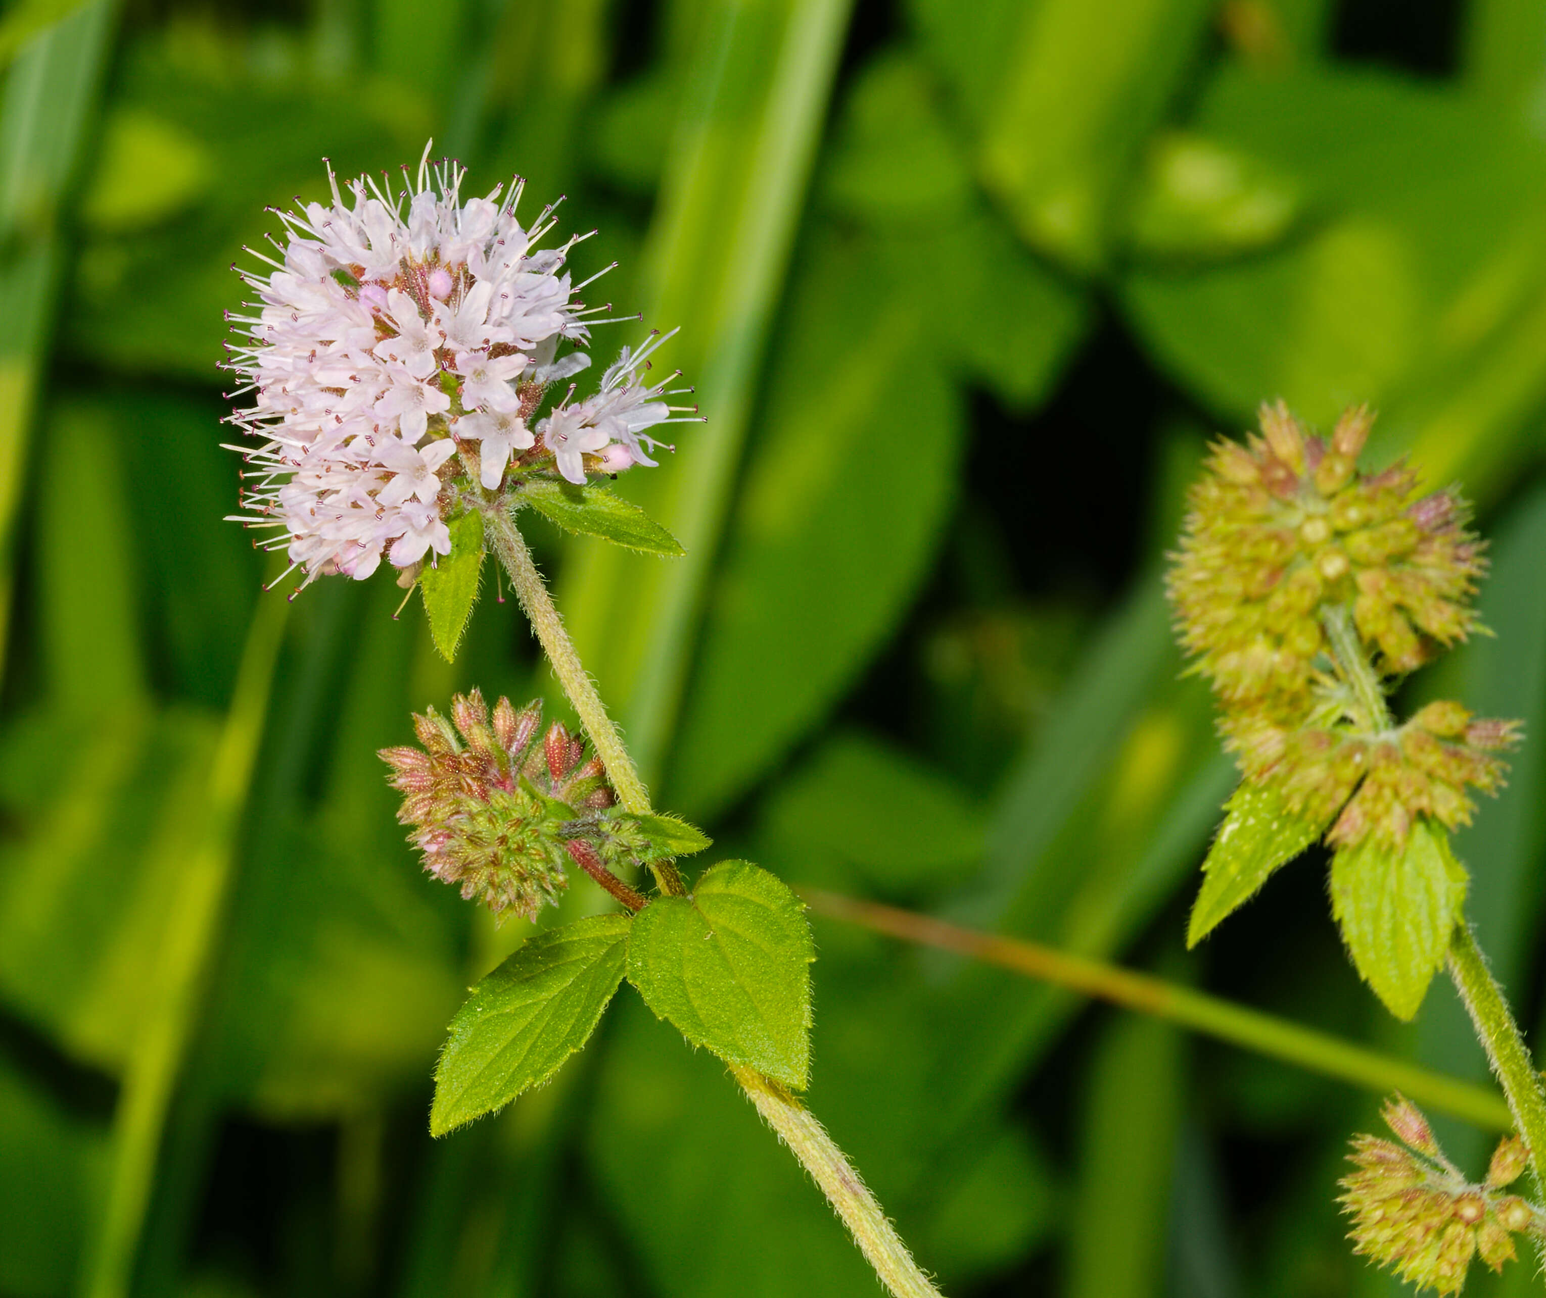
[[889, 933], [923, 946], [954, 950], [997, 964], [1030, 978], [1040, 978], [1081, 995], [1119, 1004], [1124, 1009], [1178, 1023], [1232, 1046], [1297, 1065], [1323, 1077], [1351, 1082], [1354, 1086], [1387, 1094], [1402, 1091], [1418, 1103], [1473, 1122], [1492, 1131], [1509, 1128], [1509, 1108], [1497, 1092], [1458, 1077], [1430, 1072], [1401, 1058], [1343, 1041], [1328, 1032], [1302, 1028], [1272, 1014], [1211, 997], [1190, 987], [1180, 987], [1149, 974], [1135, 974], [1116, 964], [1088, 960], [1037, 943], [979, 933], [898, 910], [873, 901], [836, 896], [802, 889], [801, 896], [818, 915], [861, 924], [878, 933]]

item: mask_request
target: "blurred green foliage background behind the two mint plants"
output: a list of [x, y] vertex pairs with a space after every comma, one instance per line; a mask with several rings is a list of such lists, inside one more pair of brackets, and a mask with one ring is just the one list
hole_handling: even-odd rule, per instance
[[[1484, 1077], [1447, 984], [1357, 984], [1320, 859], [1183, 952], [1232, 776], [1158, 573], [1207, 436], [1370, 400], [1493, 536], [1498, 637], [1408, 695], [1546, 734], [1546, 3], [17, 0], [0, 59], [0, 1295], [878, 1292], [632, 992], [428, 1139], [529, 929], [421, 873], [374, 749], [552, 685], [513, 601], [450, 668], [390, 581], [260, 600], [216, 371], [264, 206], [428, 136], [683, 326], [710, 422], [618, 487], [690, 556], [530, 525], [663, 805]], [[1541, 753], [1459, 842], [1527, 1023]], [[949, 1293], [1398, 1289], [1331, 1202], [1373, 1096], [815, 929], [810, 1102]]]

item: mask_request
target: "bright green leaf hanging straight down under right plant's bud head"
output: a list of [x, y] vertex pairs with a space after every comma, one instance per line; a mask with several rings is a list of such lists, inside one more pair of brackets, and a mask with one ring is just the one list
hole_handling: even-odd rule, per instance
[[1449, 834], [1421, 819], [1405, 848], [1373, 839], [1331, 859], [1331, 912], [1359, 975], [1396, 1018], [1411, 1018], [1444, 964], [1466, 899]]

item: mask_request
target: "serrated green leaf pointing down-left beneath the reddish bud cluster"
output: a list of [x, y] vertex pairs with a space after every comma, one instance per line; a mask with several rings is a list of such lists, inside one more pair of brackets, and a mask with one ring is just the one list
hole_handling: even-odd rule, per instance
[[586, 1043], [623, 980], [628, 929], [626, 915], [549, 929], [473, 987], [434, 1071], [431, 1136], [540, 1086]]

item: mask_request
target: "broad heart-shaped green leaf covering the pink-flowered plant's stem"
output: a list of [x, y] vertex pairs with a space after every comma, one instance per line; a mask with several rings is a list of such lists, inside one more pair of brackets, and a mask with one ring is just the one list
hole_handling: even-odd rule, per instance
[[815, 958], [795, 893], [748, 861], [725, 861], [691, 896], [638, 912], [628, 981], [694, 1046], [804, 1089]]

